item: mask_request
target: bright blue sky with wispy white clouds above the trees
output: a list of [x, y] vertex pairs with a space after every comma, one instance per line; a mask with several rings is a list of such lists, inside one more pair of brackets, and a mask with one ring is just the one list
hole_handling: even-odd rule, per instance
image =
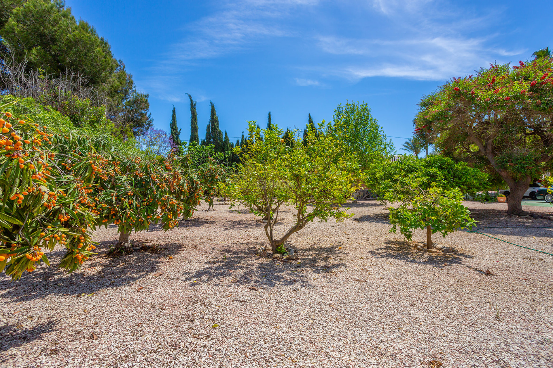
[[[210, 100], [221, 130], [247, 120], [304, 127], [332, 119], [338, 103], [365, 101], [389, 136], [410, 137], [422, 95], [489, 63], [526, 60], [551, 42], [551, 1], [68, 0], [96, 27], [150, 94], [154, 125], [176, 107], [200, 137]], [[233, 141], [236, 141], [234, 138]], [[405, 141], [393, 138], [396, 147]]]

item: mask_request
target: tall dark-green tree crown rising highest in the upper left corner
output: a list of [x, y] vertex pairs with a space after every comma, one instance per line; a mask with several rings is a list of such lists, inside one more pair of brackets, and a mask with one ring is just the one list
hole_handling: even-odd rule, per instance
[[[4, 67], [25, 65], [25, 73], [40, 71], [49, 78], [76, 73], [82, 77], [79, 83], [92, 88], [92, 103], [106, 105], [108, 119], [121, 131], [140, 135], [153, 124], [148, 94], [136, 89], [132, 75], [113, 57], [108, 42], [92, 25], [77, 22], [63, 1], [2, 0], [0, 63]], [[42, 102], [55, 104], [62, 97], [71, 100], [52, 95]], [[54, 107], [65, 111], [62, 105]]]

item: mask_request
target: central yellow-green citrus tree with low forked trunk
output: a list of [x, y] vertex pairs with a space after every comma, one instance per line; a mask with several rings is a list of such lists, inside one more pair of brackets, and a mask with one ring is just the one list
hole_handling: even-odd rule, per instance
[[[354, 191], [359, 166], [354, 154], [346, 153], [341, 143], [324, 132], [308, 132], [306, 145], [286, 145], [283, 131], [273, 125], [258, 135], [255, 122], [249, 123], [247, 150], [242, 164], [226, 188], [234, 203], [246, 206], [267, 220], [265, 234], [273, 253], [283, 253], [284, 242], [308, 222], [318, 218], [343, 221], [351, 217], [341, 209]], [[299, 137], [296, 135], [296, 140]], [[294, 223], [284, 234], [275, 234], [275, 224], [283, 205], [294, 206]]]

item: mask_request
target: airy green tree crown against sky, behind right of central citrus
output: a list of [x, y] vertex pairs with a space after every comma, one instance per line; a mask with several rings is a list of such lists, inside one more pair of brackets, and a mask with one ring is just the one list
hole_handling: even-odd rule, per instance
[[364, 169], [375, 161], [388, 159], [395, 152], [392, 141], [387, 139], [366, 103], [338, 105], [332, 123], [327, 125], [327, 134], [357, 153], [359, 164]]

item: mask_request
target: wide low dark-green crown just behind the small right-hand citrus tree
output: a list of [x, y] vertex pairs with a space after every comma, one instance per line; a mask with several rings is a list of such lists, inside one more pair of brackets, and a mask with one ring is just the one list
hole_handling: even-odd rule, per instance
[[474, 195], [490, 185], [487, 173], [471, 168], [465, 162], [455, 162], [439, 155], [422, 159], [404, 156], [395, 162], [374, 162], [366, 174], [364, 182], [381, 199], [393, 193], [397, 177], [416, 179], [422, 190], [438, 186], [468, 195]]

